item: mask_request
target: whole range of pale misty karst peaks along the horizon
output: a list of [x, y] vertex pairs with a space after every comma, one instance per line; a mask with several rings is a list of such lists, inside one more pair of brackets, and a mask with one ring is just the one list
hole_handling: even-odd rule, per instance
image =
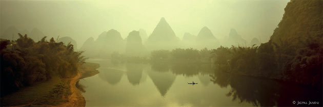
[[[11, 26], [3, 32], [1, 38], [11, 40], [13, 37], [16, 40], [18, 33], [27, 34], [35, 42], [45, 37], [45, 34], [37, 28], [29, 32], [28, 30], [20, 31]], [[74, 45], [74, 49], [77, 49], [76, 41], [70, 37], [59, 38], [58, 42], [63, 42], [64, 44], [71, 43]], [[247, 43], [235, 29], [230, 30], [225, 40], [219, 41], [207, 26], [203, 27], [197, 36], [185, 33], [183, 39], [180, 40], [163, 17], [149, 36], [144, 29], [139, 29], [138, 31], [130, 32], [128, 37], [123, 39], [118, 31], [111, 29], [102, 32], [96, 40], [93, 37], [88, 38], [79, 50], [85, 50], [84, 55], [93, 57], [109, 57], [113, 52], [125, 53], [127, 56], [143, 56], [148, 51], [159, 49], [211, 49], [217, 48], [220, 45], [230, 47], [231, 45], [252, 46], [253, 44], [259, 46], [260, 42], [257, 38], [253, 38], [250, 43]]]

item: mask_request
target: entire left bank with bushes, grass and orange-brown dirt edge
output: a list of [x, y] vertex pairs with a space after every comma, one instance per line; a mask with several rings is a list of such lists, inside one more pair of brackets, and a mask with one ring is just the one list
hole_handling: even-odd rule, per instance
[[98, 64], [85, 63], [81, 54], [53, 38], [2, 39], [1, 106], [85, 106], [75, 84], [98, 73]]

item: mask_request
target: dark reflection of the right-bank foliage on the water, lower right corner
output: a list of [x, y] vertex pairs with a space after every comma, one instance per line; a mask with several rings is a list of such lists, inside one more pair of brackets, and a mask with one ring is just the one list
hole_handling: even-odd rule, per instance
[[[293, 101], [322, 101], [322, 89], [283, 83], [225, 72], [212, 75], [214, 84], [221, 87], [231, 86], [226, 94], [232, 100], [252, 103], [254, 106], [296, 106]], [[322, 104], [310, 105], [321, 106]], [[309, 105], [302, 105], [309, 106]]]

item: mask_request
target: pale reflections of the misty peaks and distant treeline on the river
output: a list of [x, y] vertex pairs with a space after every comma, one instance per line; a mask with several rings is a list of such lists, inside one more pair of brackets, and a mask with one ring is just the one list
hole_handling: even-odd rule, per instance
[[[121, 63], [109, 64], [108, 67], [102, 68], [98, 76], [109, 84], [118, 84], [126, 72], [129, 83], [132, 85], [139, 85], [143, 82], [144, 70], [151, 78], [153, 84], [156, 86], [161, 96], [165, 96], [167, 91], [171, 88], [175, 81], [176, 75], [194, 76], [199, 73], [199, 80], [201, 84], [207, 86], [210, 81], [209, 74], [211, 73], [211, 64], [196, 64], [196, 63], [182, 63], [182, 64], [168, 64], [168, 63], [152, 63], [151, 69], [145, 69], [147, 64]], [[125, 71], [120, 70], [125, 69]]]

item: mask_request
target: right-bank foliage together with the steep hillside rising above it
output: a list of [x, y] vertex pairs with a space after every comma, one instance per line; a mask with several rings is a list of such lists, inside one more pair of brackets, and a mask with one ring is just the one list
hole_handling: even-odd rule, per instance
[[291, 1], [271, 39], [259, 47], [213, 50], [220, 70], [322, 86], [323, 1]]

